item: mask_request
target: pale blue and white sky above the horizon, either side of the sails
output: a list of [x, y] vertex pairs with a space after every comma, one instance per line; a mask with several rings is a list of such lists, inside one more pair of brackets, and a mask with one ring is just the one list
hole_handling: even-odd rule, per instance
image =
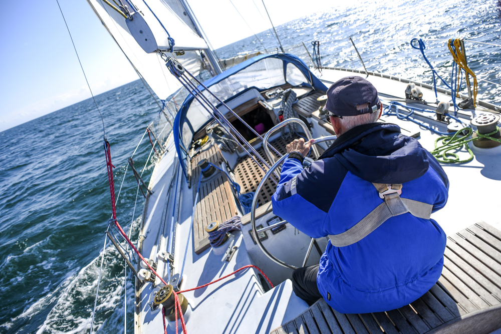
[[[254, 32], [269, 22], [261, 0], [232, 0]], [[252, 31], [229, 0], [188, 0], [215, 48]], [[275, 25], [331, 6], [328, 1], [265, 0]], [[138, 78], [136, 72], [85, 0], [59, 0], [94, 94]], [[215, 17], [215, 11], [219, 17]], [[0, 20], [0, 131], [89, 98], [56, 0], [4, 1]], [[232, 27], [228, 29], [228, 27]], [[224, 34], [221, 31], [225, 31]]]

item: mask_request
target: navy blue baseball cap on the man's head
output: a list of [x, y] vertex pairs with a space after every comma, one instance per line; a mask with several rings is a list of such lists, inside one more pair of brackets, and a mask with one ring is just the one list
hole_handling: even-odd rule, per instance
[[[357, 110], [357, 105], [369, 103], [369, 108]], [[376, 87], [361, 76], [347, 76], [334, 82], [327, 89], [324, 110], [338, 116], [356, 116], [375, 112], [381, 107]]]

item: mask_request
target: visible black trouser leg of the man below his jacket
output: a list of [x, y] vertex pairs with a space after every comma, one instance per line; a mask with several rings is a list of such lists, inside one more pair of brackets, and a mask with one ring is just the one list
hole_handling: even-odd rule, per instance
[[297, 268], [292, 273], [292, 289], [298, 297], [313, 305], [322, 298], [317, 286], [317, 274], [319, 265], [304, 266]]

